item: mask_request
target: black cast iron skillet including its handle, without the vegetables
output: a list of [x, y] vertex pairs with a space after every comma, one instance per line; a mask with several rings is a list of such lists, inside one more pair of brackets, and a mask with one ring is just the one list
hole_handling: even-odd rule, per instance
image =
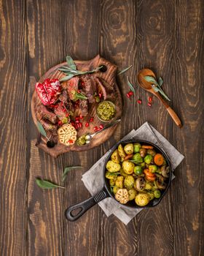
[[[79, 217], [81, 217], [82, 214], [85, 213], [85, 211], [87, 211], [92, 206], [94, 206], [96, 203], [100, 202], [101, 200], [105, 199], [106, 197], [112, 197], [114, 200], [116, 200], [114, 198], [114, 193], [111, 192], [110, 185], [109, 185], [109, 179], [107, 179], [105, 177], [105, 173], [106, 173], [106, 163], [109, 161], [109, 159], [111, 158], [111, 154], [119, 146], [120, 143], [122, 143], [122, 145], [125, 145], [127, 143], [142, 143], [145, 145], [154, 146], [157, 153], [161, 153], [165, 157], [165, 159], [168, 163], [168, 166], [170, 167], [170, 161], [168, 159], [168, 156], [165, 154], [164, 151], [162, 151], [162, 149], [160, 149], [158, 146], [154, 145], [153, 143], [150, 143], [145, 140], [125, 140], [125, 141], [119, 142], [112, 148], [112, 150], [111, 150], [109, 156], [106, 158], [106, 162], [103, 166], [103, 189], [101, 189], [101, 191], [98, 192], [96, 195], [93, 195], [93, 197], [90, 197], [89, 199], [87, 199], [81, 203], [77, 203], [74, 206], [68, 207], [65, 211], [66, 219], [70, 220], [71, 222], [74, 222], [76, 219], [79, 219]], [[137, 206], [135, 203], [135, 200], [131, 200], [131, 201], [127, 202], [125, 205], [122, 204], [122, 206], [125, 206], [129, 209], [130, 208], [151, 208], [151, 207], [157, 206], [160, 203], [160, 201], [162, 200], [162, 197], [164, 197], [165, 193], [167, 192], [168, 187], [170, 186], [171, 176], [172, 176], [172, 171], [171, 171], [171, 167], [170, 167], [170, 175], [169, 175], [169, 178], [167, 181], [167, 187], [165, 190], [161, 191], [162, 195], [160, 198], [158, 198], [158, 199], [154, 198], [153, 200], [151, 200], [149, 202], [148, 205], [146, 205], [144, 207]], [[119, 202], [117, 201], [117, 203], [119, 203]], [[73, 214], [72, 211], [77, 211], [77, 213]]]

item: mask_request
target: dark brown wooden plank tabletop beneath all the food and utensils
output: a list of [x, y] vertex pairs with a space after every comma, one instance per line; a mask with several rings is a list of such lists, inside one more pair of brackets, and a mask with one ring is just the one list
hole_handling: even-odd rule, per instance
[[[203, 230], [203, 1], [202, 0], [1, 0], [0, 1], [0, 255], [158, 256], [204, 255]], [[100, 53], [137, 85], [139, 69], [162, 76], [179, 129], [154, 99], [148, 108], [137, 87], [128, 100], [126, 75], [122, 124], [114, 137], [91, 151], [53, 159], [36, 148], [31, 83], [66, 55], [87, 60]], [[136, 99], [142, 99], [138, 105]], [[185, 159], [165, 199], [141, 211], [127, 226], [94, 206], [76, 222], [67, 206], [90, 197], [81, 181], [120, 138], [149, 121]], [[35, 178], [66, 189], [42, 190]]]

